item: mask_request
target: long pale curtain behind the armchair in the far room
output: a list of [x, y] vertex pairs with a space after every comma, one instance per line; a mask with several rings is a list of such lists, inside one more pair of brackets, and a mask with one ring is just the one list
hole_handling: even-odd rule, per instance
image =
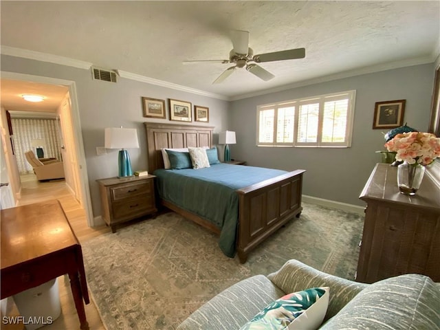
[[26, 151], [34, 151], [32, 140], [43, 139], [44, 157], [61, 159], [60, 127], [56, 119], [12, 118], [12, 138], [20, 174], [33, 173], [32, 166], [25, 157]]

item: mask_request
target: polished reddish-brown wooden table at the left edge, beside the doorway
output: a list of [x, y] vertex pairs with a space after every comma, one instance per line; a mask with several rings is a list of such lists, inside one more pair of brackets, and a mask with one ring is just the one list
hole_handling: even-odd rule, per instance
[[88, 330], [83, 252], [60, 203], [52, 200], [1, 210], [0, 223], [1, 299], [69, 274], [80, 329]]

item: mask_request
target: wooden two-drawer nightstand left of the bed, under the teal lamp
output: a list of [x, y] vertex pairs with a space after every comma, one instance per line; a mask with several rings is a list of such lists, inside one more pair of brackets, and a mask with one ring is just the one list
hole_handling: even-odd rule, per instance
[[155, 175], [111, 177], [96, 180], [101, 195], [102, 218], [116, 232], [115, 225], [157, 212]]

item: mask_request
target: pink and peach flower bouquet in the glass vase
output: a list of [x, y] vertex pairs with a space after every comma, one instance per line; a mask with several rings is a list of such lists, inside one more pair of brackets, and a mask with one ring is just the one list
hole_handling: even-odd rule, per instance
[[431, 133], [409, 132], [397, 134], [385, 144], [388, 151], [394, 151], [396, 159], [408, 164], [423, 166], [440, 157], [440, 137]]

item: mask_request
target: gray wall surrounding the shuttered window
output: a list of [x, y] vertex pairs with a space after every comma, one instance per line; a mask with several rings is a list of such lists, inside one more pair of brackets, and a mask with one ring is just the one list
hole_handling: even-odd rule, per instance
[[[404, 121], [420, 131], [428, 129], [434, 81], [434, 64], [364, 74], [263, 96], [236, 100], [230, 104], [229, 127], [236, 131], [231, 146], [233, 159], [252, 166], [307, 170], [303, 193], [313, 197], [363, 206], [358, 199], [371, 170], [384, 150], [388, 130], [372, 129], [375, 102], [406, 100]], [[356, 90], [351, 148], [274, 148], [256, 146], [256, 107], [283, 100]]]

